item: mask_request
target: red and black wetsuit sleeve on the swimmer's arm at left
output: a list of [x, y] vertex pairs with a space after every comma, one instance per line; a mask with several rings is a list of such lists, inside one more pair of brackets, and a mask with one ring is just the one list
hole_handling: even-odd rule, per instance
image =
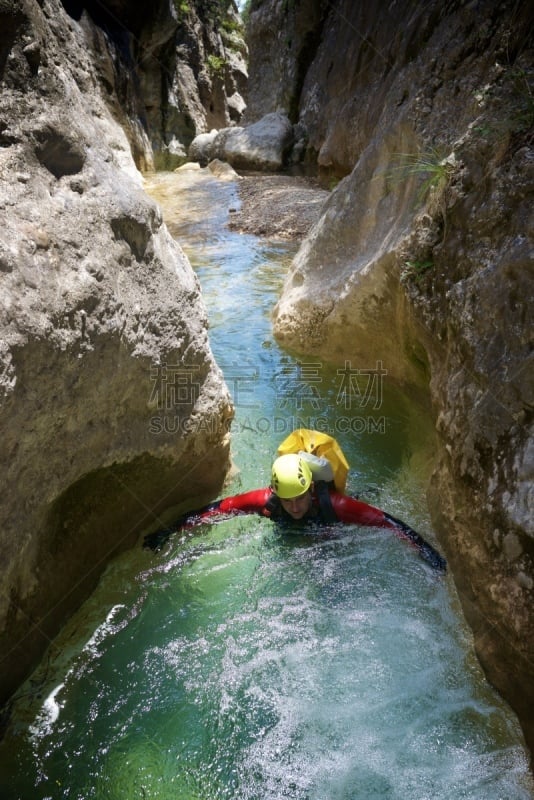
[[167, 528], [149, 533], [143, 540], [143, 547], [160, 550], [171, 534], [179, 530], [188, 530], [212, 519], [229, 517], [234, 514], [263, 514], [265, 505], [271, 497], [271, 489], [254, 489], [251, 492], [224, 497], [215, 503], [188, 511]]

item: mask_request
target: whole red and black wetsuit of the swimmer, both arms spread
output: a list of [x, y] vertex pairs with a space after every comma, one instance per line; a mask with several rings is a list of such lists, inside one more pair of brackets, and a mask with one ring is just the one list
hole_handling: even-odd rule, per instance
[[294, 520], [284, 510], [279, 498], [272, 489], [269, 487], [254, 489], [243, 494], [225, 497], [197, 511], [191, 511], [178, 520], [171, 529], [149, 534], [145, 537], [145, 545], [157, 550], [168, 536], [176, 530], [190, 528], [202, 522], [209, 522], [216, 517], [232, 516], [234, 514], [259, 514], [276, 522], [288, 523], [296, 527], [302, 527], [303, 524], [309, 523], [325, 525], [333, 522], [345, 522], [353, 525], [372, 525], [380, 528], [389, 528], [398, 536], [408, 539], [417, 548], [421, 557], [435, 569], [442, 572], [446, 570], [445, 559], [405, 522], [395, 519], [390, 514], [363, 503], [361, 500], [329, 489], [322, 482], [314, 484], [310, 510], [300, 520]]

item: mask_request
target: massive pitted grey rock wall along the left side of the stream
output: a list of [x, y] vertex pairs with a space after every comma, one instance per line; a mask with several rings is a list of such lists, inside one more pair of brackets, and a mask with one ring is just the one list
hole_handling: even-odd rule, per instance
[[5, 699], [114, 553], [220, 491], [232, 410], [102, 30], [56, 0], [2, 4], [0, 30]]

